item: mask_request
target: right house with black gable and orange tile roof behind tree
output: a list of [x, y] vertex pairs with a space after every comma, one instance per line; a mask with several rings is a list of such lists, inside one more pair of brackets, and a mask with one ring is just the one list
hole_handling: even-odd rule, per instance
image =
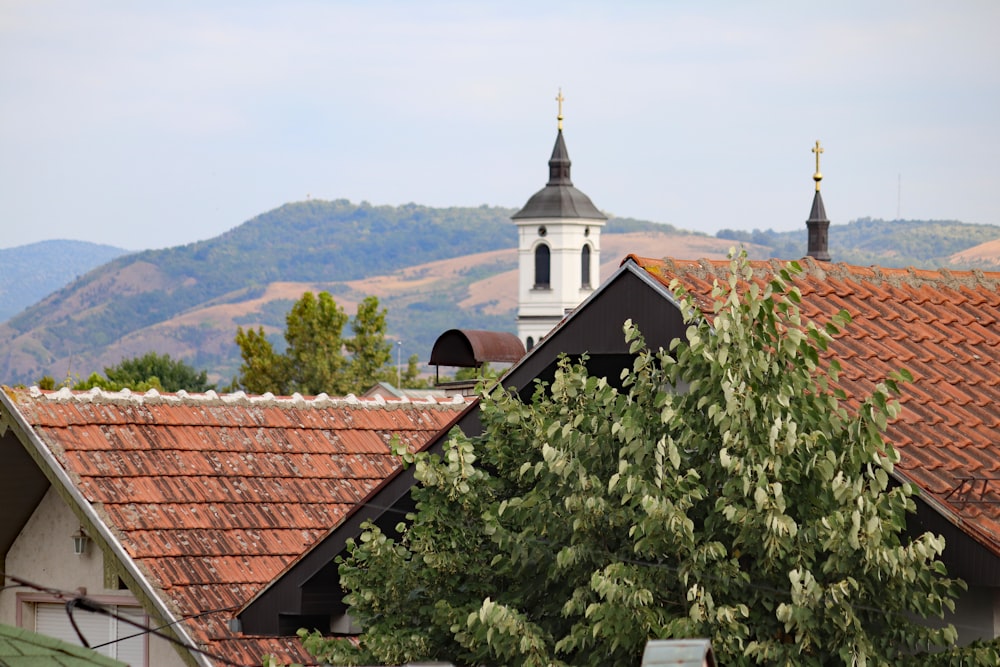
[[[818, 193], [817, 193], [818, 194]], [[825, 217], [825, 216], [823, 216]], [[755, 280], [767, 280], [784, 262], [753, 262]], [[802, 293], [803, 315], [822, 326], [841, 309], [853, 321], [831, 342], [827, 358], [839, 360], [839, 386], [856, 407], [873, 386], [899, 368], [914, 381], [901, 386], [902, 414], [886, 433], [899, 451], [899, 482], [920, 490], [917, 512], [910, 517], [915, 533], [931, 530], [947, 540], [944, 561], [949, 572], [966, 580], [969, 591], [951, 619], [961, 640], [1000, 635], [1000, 273], [918, 271], [818, 262], [807, 257], [794, 284]], [[725, 277], [728, 262], [654, 260], [629, 256], [619, 270], [579, 308], [560, 322], [504, 376], [527, 398], [536, 378], [553, 377], [560, 353], [586, 352], [591, 373], [615, 382], [631, 365], [621, 325], [632, 319], [647, 343], [666, 347], [684, 335], [679, 305], [669, 285], [677, 279], [711, 312], [715, 280]], [[478, 405], [468, 407], [457, 424], [480, 432]], [[440, 450], [445, 435], [427, 448]], [[335, 581], [332, 560], [343, 553], [365, 520], [390, 529], [405, 510], [414, 480], [399, 471], [366, 503], [318, 542], [285, 573], [264, 588], [239, 615], [245, 627], [262, 633], [277, 628], [274, 611], [295, 600], [317, 600], [310, 582]], [[391, 519], [391, 520], [390, 520]], [[326, 591], [326, 610], [344, 612], [334, 588]], [[299, 611], [305, 608], [300, 607]]]

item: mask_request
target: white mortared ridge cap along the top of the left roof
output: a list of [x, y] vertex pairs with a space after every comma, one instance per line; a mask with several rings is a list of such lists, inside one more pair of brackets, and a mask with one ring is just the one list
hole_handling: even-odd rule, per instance
[[[15, 390], [22, 396], [24, 390]], [[45, 399], [53, 403], [96, 403], [111, 405], [188, 405], [188, 406], [255, 406], [255, 407], [275, 407], [275, 408], [360, 408], [360, 409], [441, 409], [452, 410], [457, 407], [464, 407], [468, 401], [462, 396], [453, 396], [447, 400], [439, 400], [433, 396], [426, 399], [410, 399], [402, 397], [400, 399], [386, 400], [382, 396], [370, 398], [358, 398], [354, 394], [344, 397], [330, 397], [326, 394], [318, 394], [311, 398], [306, 398], [295, 393], [291, 396], [274, 396], [271, 393], [252, 395], [242, 391], [232, 394], [218, 394], [209, 390], [203, 394], [189, 394], [183, 389], [177, 393], [161, 393], [156, 389], [150, 389], [143, 393], [136, 393], [129, 389], [121, 391], [106, 391], [97, 387], [86, 391], [73, 391], [68, 387], [63, 387], [57, 391], [43, 391], [37, 386], [33, 386], [26, 392], [32, 399]]]

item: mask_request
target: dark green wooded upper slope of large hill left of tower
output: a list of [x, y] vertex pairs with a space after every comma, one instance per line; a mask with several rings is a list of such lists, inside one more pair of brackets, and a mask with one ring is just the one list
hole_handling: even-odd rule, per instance
[[[514, 231], [501, 208], [431, 209], [355, 205], [345, 199], [286, 204], [207, 241], [147, 250], [113, 261], [74, 281], [10, 320], [24, 332], [39, 310], [88, 290], [90, 303], [114, 293], [97, 287], [108, 272], [144, 263], [156, 268], [157, 287], [117, 295], [100, 314], [82, 315], [55, 328], [45, 344], [70, 329], [84, 340], [107, 339], [169, 318], [205, 301], [236, 292], [239, 297], [276, 280], [329, 282], [377, 275], [400, 266], [507, 247]], [[58, 349], [55, 347], [53, 349]]]

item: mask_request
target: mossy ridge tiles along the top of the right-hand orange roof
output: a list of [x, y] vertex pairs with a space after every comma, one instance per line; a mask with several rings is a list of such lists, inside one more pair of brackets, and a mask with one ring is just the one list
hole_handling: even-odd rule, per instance
[[[695, 277], [700, 278], [716, 277], [720, 271], [729, 268], [728, 259], [677, 259], [673, 257], [657, 259], [642, 257], [633, 253], [626, 256], [622, 260], [622, 264], [629, 259], [650, 273], [654, 273], [651, 269], [662, 266], [669, 273], [693, 274]], [[953, 270], [942, 267], [934, 270], [917, 269], [912, 266], [907, 268], [889, 268], [877, 265], [857, 266], [844, 262], [817, 262], [812, 257], [803, 257], [798, 260], [751, 260], [749, 264], [755, 274], [772, 274], [786, 267], [792, 261], [798, 262], [799, 266], [802, 267], [802, 277], [813, 277], [819, 280], [826, 280], [829, 277], [875, 284], [889, 283], [897, 286], [905, 283], [911, 287], [920, 287], [926, 284], [943, 284], [949, 287], [964, 286], [1000, 289], [1000, 272], [983, 271], [981, 269]]]

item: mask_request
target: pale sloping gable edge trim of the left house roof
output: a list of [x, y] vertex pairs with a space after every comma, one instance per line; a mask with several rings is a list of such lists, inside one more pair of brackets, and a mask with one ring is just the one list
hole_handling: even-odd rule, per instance
[[[0, 388], [0, 403], [6, 408], [6, 412], [13, 419], [14, 423], [10, 426], [16, 427], [20, 432], [18, 435], [18, 440], [25, 446], [28, 443], [34, 448], [31, 452], [36, 461], [41, 460], [45, 463], [47, 470], [45, 476], [49, 478], [51, 483], [58, 482], [63, 489], [70, 495], [73, 501], [76, 503], [77, 510], [86, 516], [88, 522], [97, 529], [100, 534], [101, 539], [108, 546], [111, 552], [118, 558], [118, 561], [123, 565], [123, 567], [128, 571], [129, 575], [136, 581], [136, 583], [142, 588], [143, 593], [152, 602], [153, 606], [156, 608], [156, 613], [163, 618], [163, 620], [170, 625], [171, 632], [177, 636], [177, 638], [187, 644], [188, 646], [198, 647], [198, 643], [194, 638], [188, 634], [187, 628], [182, 624], [183, 619], [176, 616], [164, 603], [159, 595], [155, 592], [152, 585], [150, 585], [149, 580], [136, 565], [132, 557], [129, 556], [125, 547], [122, 546], [118, 538], [111, 532], [107, 524], [101, 519], [97, 514], [97, 511], [93, 508], [90, 502], [83, 497], [80, 490], [73, 483], [66, 470], [60, 465], [59, 461], [56, 459], [52, 451], [42, 442], [41, 438], [35, 433], [34, 428], [28, 423], [21, 414], [21, 411], [17, 409], [17, 406], [11, 400], [10, 396], [7, 394], [5, 388]], [[2, 422], [6, 420], [0, 420], [0, 433], [4, 430]], [[208, 656], [203, 653], [197, 653], [194, 651], [188, 651], [188, 655], [193, 659], [196, 665], [201, 667], [213, 667], [213, 663], [209, 660]]]

